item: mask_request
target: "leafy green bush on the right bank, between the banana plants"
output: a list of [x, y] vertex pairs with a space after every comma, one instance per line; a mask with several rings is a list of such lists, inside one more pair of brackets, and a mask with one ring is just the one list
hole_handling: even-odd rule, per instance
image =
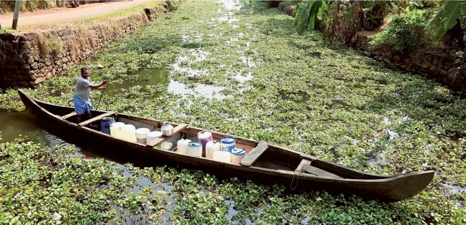
[[388, 44], [396, 51], [414, 50], [426, 43], [426, 14], [428, 11], [406, 11], [395, 14], [391, 22], [379, 33], [370, 36], [374, 45]]

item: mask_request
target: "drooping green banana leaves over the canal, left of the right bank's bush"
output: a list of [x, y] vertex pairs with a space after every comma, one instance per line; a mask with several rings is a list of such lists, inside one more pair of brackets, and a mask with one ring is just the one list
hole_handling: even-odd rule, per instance
[[298, 33], [314, 29], [317, 20], [323, 20], [328, 15], [328, 5], [331, 0], [303, 0], [296, 8], [295, 25], [298, 26]]

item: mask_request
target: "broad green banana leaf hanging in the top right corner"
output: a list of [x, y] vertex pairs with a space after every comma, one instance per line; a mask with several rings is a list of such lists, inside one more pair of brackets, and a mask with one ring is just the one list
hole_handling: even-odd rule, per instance
[[447, 1], [429, 20], [425, 30], [435, 30], [432, 40], [438, 40], [452, 29], [460, 16], [466, 15], [466, 0]]

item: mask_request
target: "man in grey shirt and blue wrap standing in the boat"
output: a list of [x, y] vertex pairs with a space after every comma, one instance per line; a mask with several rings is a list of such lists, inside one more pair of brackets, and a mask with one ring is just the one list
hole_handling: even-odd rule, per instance
[[107, 81], [104, 80], [102, 83], [95, 85], [92, 84], [91, 78], [89, 77], [89, 69], [87, 67], [81, 68], [81, 76], [76, 82], [76, 90], [73, 96], [73, 104], [76, 112], [76, 123], [80, 123], [83, 119], [91, 119], [91, 110], [94, 109], [89, 98], [91, 97], [91, 88], [95, 90], [105, 90]]

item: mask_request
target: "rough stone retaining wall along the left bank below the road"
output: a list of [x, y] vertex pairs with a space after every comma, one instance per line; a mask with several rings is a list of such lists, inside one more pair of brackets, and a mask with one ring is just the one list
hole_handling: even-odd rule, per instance
[[146, 26], [149, 19], [171, 9], [143, 9], [115, 21], [89, 27], [57, 28], [19, 34], [0, 34], [0, 87], [34, 87], [80, 63], [117, 37]]

